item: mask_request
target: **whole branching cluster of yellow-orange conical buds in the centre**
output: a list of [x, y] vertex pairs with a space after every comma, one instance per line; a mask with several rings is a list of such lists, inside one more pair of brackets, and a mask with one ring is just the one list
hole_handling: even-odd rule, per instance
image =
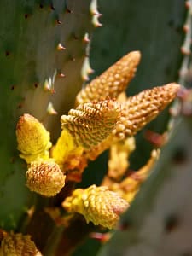
[[110, 149], [105, 186], [75, 189], [62, 203], [67, 212], [79, 212], [87, 222], [108, 229], [115, 226], [157, 159], [153, 153], [146, 168], [122, 180], [135, 149], [133, 136], [172, 102], [180, 88], [172, 83], [122, 96], [140, 58], [138, 51], [125, 55], [79, 92], [75, 108], [61, 116], [61, 136], [53, 147], [49, 131], [30, 114], [20, 117], [16, 129], [20, 157], [28, 164], [26, 185], [44, 196], [58, 194], [68, 180], [79, 182], [88, 161]]

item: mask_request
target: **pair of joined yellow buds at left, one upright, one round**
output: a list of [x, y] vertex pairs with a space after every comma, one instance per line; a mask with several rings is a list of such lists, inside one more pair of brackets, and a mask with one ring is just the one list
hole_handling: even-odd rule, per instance
[[30, 114], [20, 117], [16, 127], [20, 157], [26, 160], [26, 185], [32, 191], [44, 196], [59, 193], [65, 185], [65, 174], [55, 160], [49, 159], [49, 131]]

